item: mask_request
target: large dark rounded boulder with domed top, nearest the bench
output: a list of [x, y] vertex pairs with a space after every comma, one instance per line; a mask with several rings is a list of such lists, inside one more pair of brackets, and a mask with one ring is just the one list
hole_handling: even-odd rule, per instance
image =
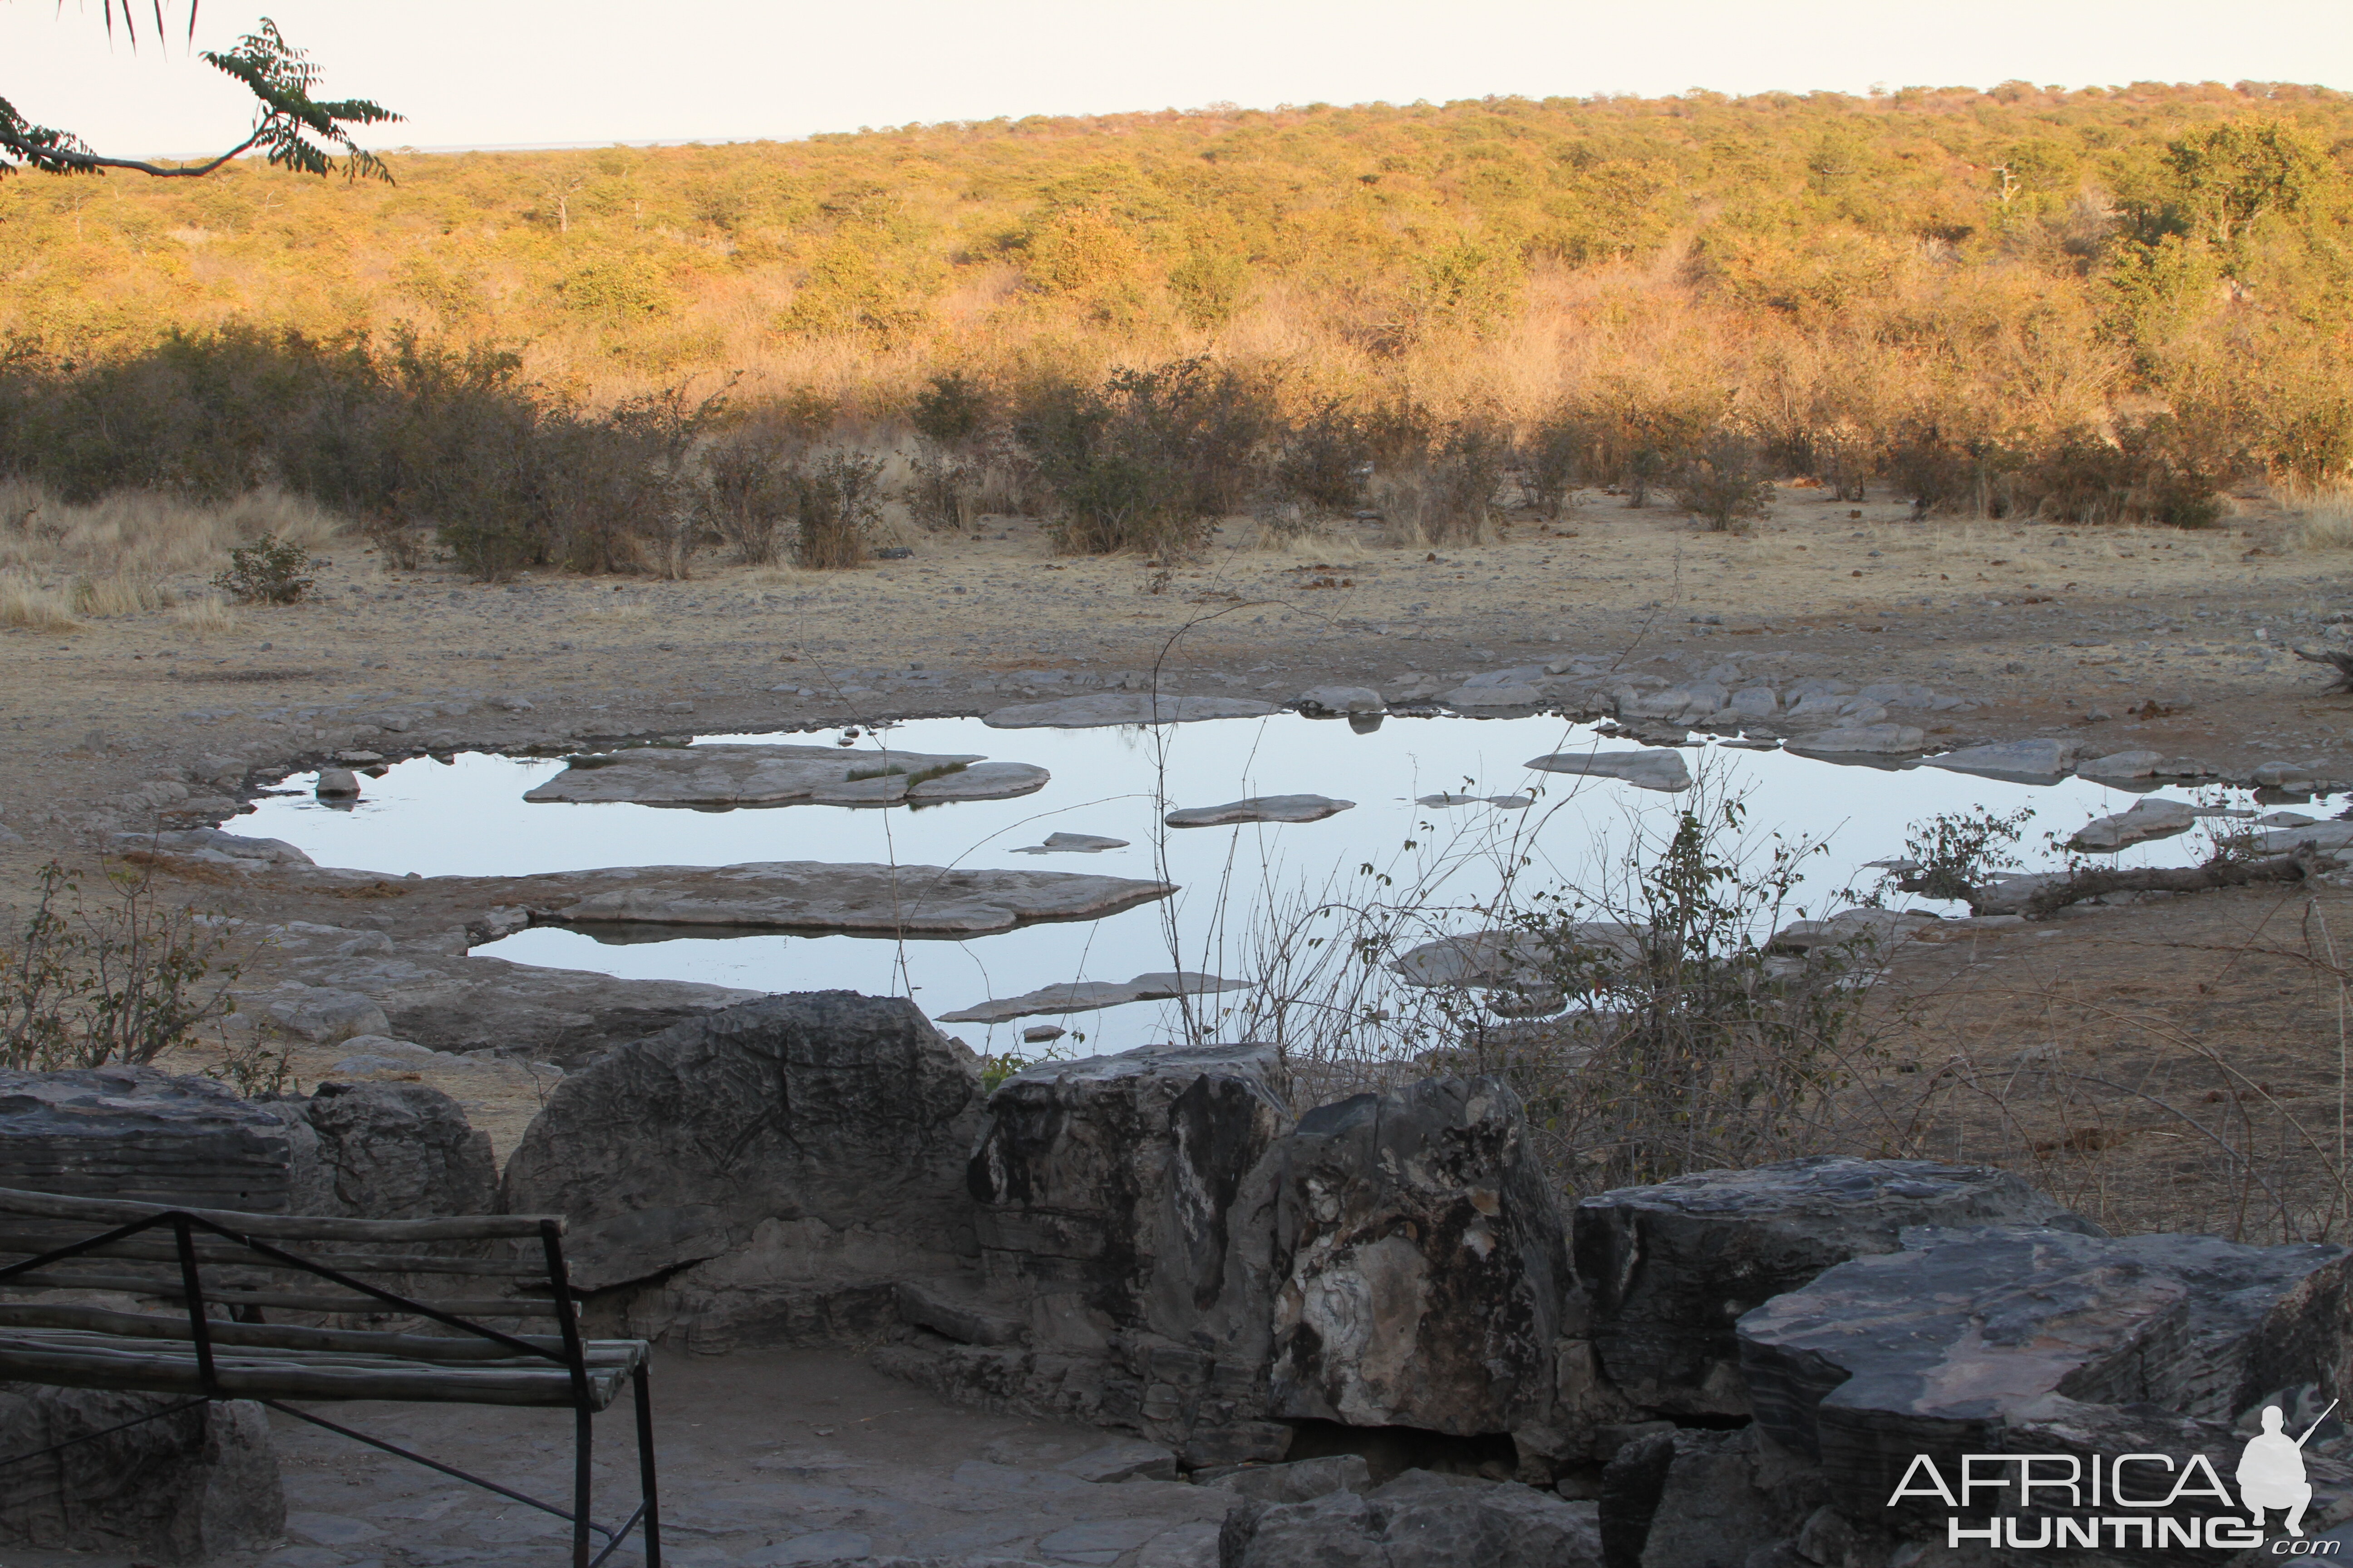
[[892, 1281], [969, 1262], [972, 1051], [899, 997], [795, 992], [567, 1077], [506, 1166], [569, 1218], [572, 1279], [692, 1349], [873, 1328]]

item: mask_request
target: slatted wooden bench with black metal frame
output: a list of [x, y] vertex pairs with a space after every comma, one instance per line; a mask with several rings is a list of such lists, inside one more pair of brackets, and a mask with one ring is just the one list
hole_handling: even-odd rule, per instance
[[[0, 1380], [186, 1394], [141, 1425], [212, 1399], [294, 1420], [544, 1509], [572, 1526], [574, 1568], [642, 1530], [661, 1568], [645, 1340], [584, 1340], [551, 1215], [341, 1220], [167, 1208], [0, 1187]], [[304, 1255], [280, 1244], [304, 1244]], [[132, 1298], [132, 1309], [56, 1293]], [[546, 1326], [553, 1333], [527, 1326]], [[638, 1413], [638, 1509], [591, 1521], [593, 1415], [628, 1387]], [[393, 1399], [572, 1410], [572, 1507], [353, 1432], [285, 1401]], [[120, 1432], [120, 1427], [113, 1427]], [[0, 1458], [0, 1467], [68, 1443]], [[591, 1535], [602, 1549], [591, 1554]]]

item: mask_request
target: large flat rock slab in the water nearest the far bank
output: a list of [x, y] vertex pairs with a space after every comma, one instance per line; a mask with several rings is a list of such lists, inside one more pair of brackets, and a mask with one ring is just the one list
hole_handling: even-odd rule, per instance
[[887, 806], [896, 802], [1009, 799], [1049, 773], [1024, 762], [856, 752], [838, 745], [647, 745], [572, 766], [529, 802], [638, 806]]

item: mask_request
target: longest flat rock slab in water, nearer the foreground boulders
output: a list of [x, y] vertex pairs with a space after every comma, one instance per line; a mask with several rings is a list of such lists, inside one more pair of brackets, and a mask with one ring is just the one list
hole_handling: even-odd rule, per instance
[[1101, 919], [1176, 891], [1169, 882], [1082, 872], [826, 860], [645, 865], [534, 882], [595, 889], [544, 912], [544, 919], [562, 926], [736, 926], [878, 936], [984, 936], [1038, 919]]

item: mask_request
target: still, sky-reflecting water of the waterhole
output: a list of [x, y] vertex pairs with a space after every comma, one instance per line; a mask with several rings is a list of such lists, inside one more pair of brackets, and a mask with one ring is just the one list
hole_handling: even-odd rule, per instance
[[[701, 743], [824, 743], [828, 733], [701, 736]], [[311, 797], [315, 776], [296, 773], [233, 832], [287, 839], [320, 865], [426, 877], [527, 875], [607, 865], [729, 865], [739, 860], [835, 860], [953, 867], [1104, 872], [1165, 879], [1179, 893], [1099, 922], [1035, 924], [972, 940], [880, 940], [852, 936], [680, 936], [654, 943], [600, 943], [586, 931], [539, 926], [475, 947], [520, 964], [591, 969], [631, 978], [708, 980], [760, 992], [849, 987], [908, 994], [939, 1016], [991, 997], [1014, 997], [1068, 980], [1127, 980], [1191, 969], [1247, 980], [1257, 940], [1301, 898], [1398, 898], [1414, 889], [1433, 905], [1459, 907], [1459, 929], [1482, 924], [1487, 900], [1515, 867], [1518, 886], [1612, 886], [1626, 846], [1659, 837], [1678, 809], [1741, 806], [1739, 839], [1751, 856], [1772, 837], [1807, 839], [1826, 853], [1805, 860], [1798, 903], [1835, 907], [1835, 893], [1868, 886], [1868, 860], [1897, 856], [1906, 827], [1941, 811], [1991, 806], [2033, 811], [2019, 844], [2028, 870], [2059, 863], [2045, 835], [2066, 839], [2094, 816], [2127, 809], [2146, 792], [2080, 778], [2021, 785], [1937, 766], [1878, 769], [1788, 752], [1741, 750], [1694, 738], [1682, 748], [1699, 776], [1685, 795], [1638, 790], [1607, 778], [1539, 773], [1532, 757], [1562, 750], [1645, 750], [1558, 717], [1468, 719], [1391, 717], [1372, 733], [1346, 722], [1271, 715], [1160, 729], [988, 729], [979, 719], [911, 719], [861, 733], [856, 752], [885, 748], [965, 752], [1052, 771], [1035, 795], [953, 802], [925, 809], [776, 806], [682, 811], [635, 804], [527, 804], [525, 790], [562, 771], [560, 759], [464, 752], [419, 757], [362, 780], [355, 806]], [[1165, 830], [1176, 806], [1214, 806], [1249, 795], [1329, 795], [1353, 811], [1304, 825]], [[1529, 795], [1527, 809], [1494, 804], [1424, 806], [1428, 795]], [[2205, 806], [2249, 806], [2242, 790], [2169, 788], [2155, 795]], [[2301, 806], [2329, 816], [2344, 802]], [[1127, 839], [1104, 853], [1024, 856], [1049, 832]], [[2106, 856], [2108, 865], [2193, 865], [2209, 849], [2209, 823]], [[1388, 877], [1388, 886], [1379, 884]], [[1922, 903], [1944, 914], [1958, 905]], [[1795, 917], [1798, 910], [1788, 910]], [[1028, 1025], [1061, 1023], [1087, 1051], [1125, 1051], [1167, 1039], [1172, 1004], [1139, 1001], [1066, 1018], [1000, 1025], [946, 1025], [974, 1048], [1019, 1048]], [[1064, 1041], [1071, 1046], [1078, 1041]]]

